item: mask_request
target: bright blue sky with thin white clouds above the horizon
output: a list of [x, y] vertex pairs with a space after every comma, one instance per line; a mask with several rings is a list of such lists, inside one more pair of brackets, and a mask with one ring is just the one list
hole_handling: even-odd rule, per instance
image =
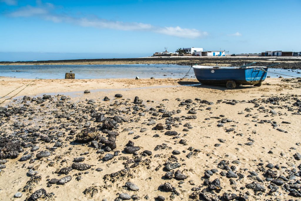
[[0, 0], [0, 60], [301, 51], [300, 9], [299, 0]]

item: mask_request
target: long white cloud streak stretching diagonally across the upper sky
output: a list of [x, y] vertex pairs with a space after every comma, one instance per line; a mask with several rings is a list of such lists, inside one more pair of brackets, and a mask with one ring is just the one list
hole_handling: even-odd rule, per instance
[[207, 36], [207, 32], [201, 32], [197, 29], [175, 27], [160, 27], [151, 24], [137, 22], [112, 21], [102, 18], [88, 19], [85, 17], [76, 18], [67, 15], [60, 15], [54, 12], [55, 6], [50, 3], [43, 4], [37, 0], [37, 6], [27, 5], [9, 14], [11, 17], [40, 17], [54, 23], [73, 23], [83, 27], [95, 27], [101, 29], [116, 29], [123, 31], [151, 31], [161, 33], [168, 36], [176, 36], [181, 38], [199, 38]]

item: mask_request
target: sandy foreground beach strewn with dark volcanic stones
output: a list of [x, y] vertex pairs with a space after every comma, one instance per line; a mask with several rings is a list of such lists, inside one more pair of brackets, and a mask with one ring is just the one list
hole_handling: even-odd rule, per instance
[[0, 86], [1, 102], [13, 96], [0, 110], [1, 200], [300, 196], [298, 79], [234, 90], [196, 79]]

